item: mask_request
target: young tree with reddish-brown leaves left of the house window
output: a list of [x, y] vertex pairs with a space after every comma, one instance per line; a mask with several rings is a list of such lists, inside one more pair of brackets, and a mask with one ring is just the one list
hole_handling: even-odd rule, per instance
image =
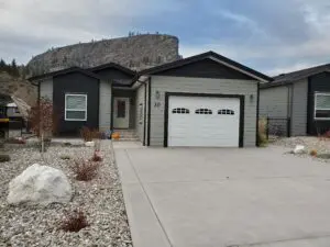
[[53, 103], [47, 98], [41, 98], [29, 115], [31, 131], [41, 141], [41, 151], [45, 150], [45, 139], [51, 139], [56, 130], [57, 117], [54, 114]]

